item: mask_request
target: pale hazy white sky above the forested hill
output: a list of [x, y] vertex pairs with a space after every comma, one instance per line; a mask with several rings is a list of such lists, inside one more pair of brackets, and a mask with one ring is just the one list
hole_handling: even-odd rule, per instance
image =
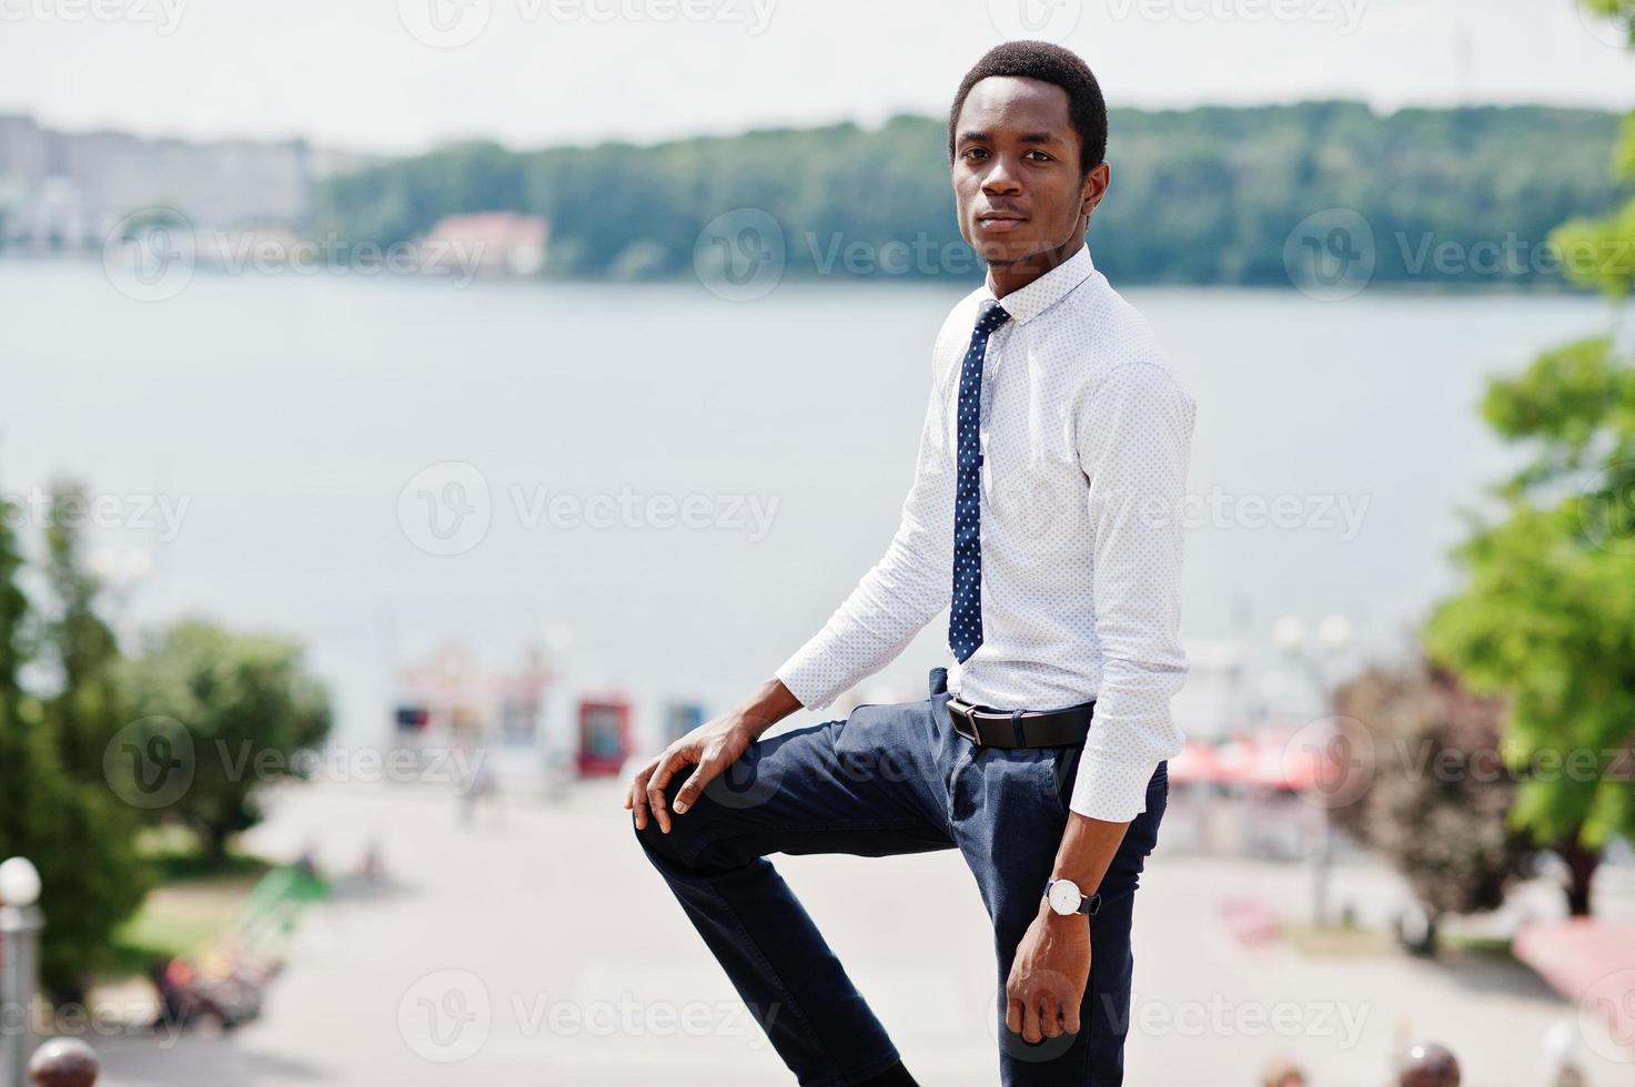
[[940, 114], [1004, 38], [1113, 106], [1635, 106], [1575, 0], [0, 0], [0, 113], [414, 152]]

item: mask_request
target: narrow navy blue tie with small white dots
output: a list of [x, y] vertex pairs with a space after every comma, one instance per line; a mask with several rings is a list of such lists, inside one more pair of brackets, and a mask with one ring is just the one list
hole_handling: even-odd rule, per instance
[[960, 664], [983, 644], [983, 356], [988, 337], [1007, 320], [1010, 314], [997, 301], [984, 299], [960, 368], [960, 472], [953, 492], [953, 606], [948, 611], [948, 649]]

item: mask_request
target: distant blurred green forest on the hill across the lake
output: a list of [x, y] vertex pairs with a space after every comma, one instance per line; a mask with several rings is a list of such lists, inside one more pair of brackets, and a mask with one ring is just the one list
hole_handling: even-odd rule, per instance
[[[1346, 208], [1373, 230], [1375, 283], [1558, 284], [1539, 258], [1550, 230], [1625, 193], [1609, 170], [1619, 124], [1543, 106], [1115, 110], [1112, 188], [1091, 245], [1118, 283], [1287, 286], [1290, 232]], [[327, 178], [319, 199], [320, 229], [343, 244], [407, 242], [455, 212], [538, 214], [551, 222], [554, 278], [690, 275], [705, 224], [742, 208], [782, 226], [791, 278], [979, 276], [953, 219], [943, 124], [921, 116], [644, 147], [459, 144]], [[886, 242], [929, 258], [837, 258]], [[1437, 268], [1431, 247], [1447, 242], [1519, 257]]]

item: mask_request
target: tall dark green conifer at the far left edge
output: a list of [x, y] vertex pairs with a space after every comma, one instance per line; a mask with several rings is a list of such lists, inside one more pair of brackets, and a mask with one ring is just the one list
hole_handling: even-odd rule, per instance
[[106, 785], [64, 770], [39, 701], [20, 683], [31, 616], [10, 521], [11, 508], [0, 502], [0, 857], [28, 857], [39, 868], [41, 976], [57, 999], [80, 999], [113, 930], [141, 906], [150, 873], [132, 847], [129, 812]]

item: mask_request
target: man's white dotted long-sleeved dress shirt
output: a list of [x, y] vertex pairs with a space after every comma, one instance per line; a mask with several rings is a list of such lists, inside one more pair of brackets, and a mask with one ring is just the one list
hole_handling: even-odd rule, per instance
[[[896, 657], [953, 595], [960, 361], [992, 280], [950, 311], [914, 485], [886, 554], [777, 675], [827, 706]], [[1182, 499], [1195, 404], [1146, 320], [1081, 247], [999, 299], [983, 363], [983, 644], [948, 690], [997, 709], [1095, 700], [1069, 807], [1125, 822], [1159, 760], [1180, 647]]]

